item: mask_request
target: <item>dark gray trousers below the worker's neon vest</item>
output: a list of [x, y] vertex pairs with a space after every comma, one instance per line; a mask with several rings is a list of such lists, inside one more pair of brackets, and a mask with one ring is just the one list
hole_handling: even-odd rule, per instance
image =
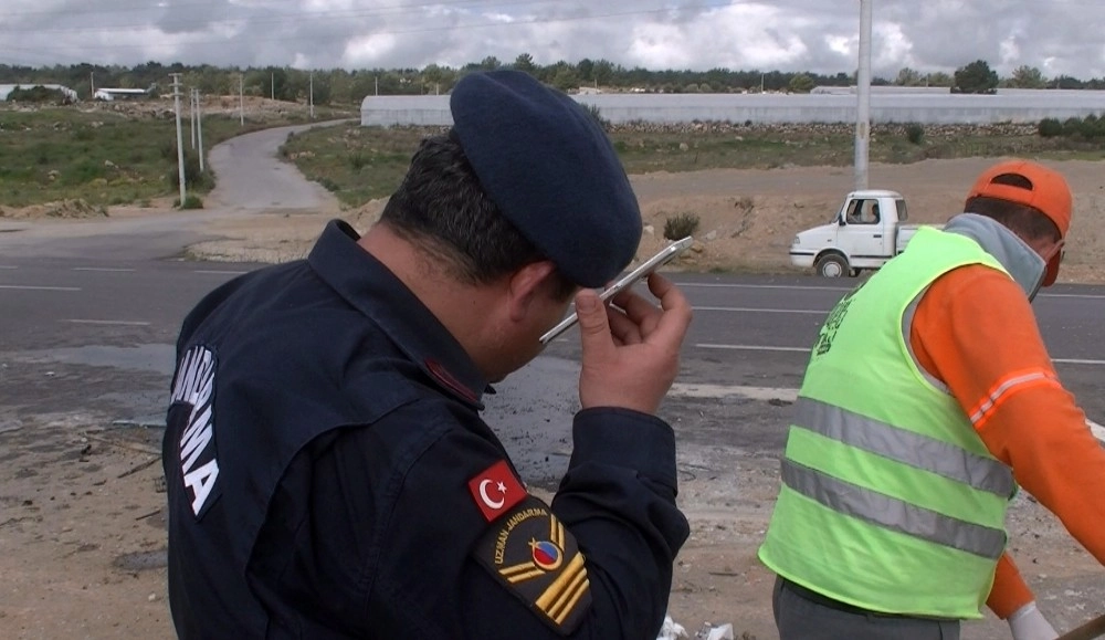
[[[771, 597], [779, 640], [959, 640], [958, 620], [932, 620], [831, 607], [782, 578]], [[852, 609], [852, 610], [845, 610]]]

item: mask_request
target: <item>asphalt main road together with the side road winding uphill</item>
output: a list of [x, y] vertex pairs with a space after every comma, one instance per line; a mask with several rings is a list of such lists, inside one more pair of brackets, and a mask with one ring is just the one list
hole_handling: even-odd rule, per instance
[[[259, 132], [212, 149], [222, 186], [209, 210], [0, 223], [0, 431], [59, 412], [160, 423], [185, 314], [219, 284], [263, 266], [185, 261], [181, 250], [204, 238], [199, 222], [206, 219], [309, 209], [328, 198], [275, 157], [290, 130], [302, 128]], [[672, 277], [690, 296], [695, 321], [663, 417], [687, 445], [778, 455], [808, 349], [827, 312], [855, 282]], [[1091, 420], [1105, 422], [1097, 392], [1105, 373], [1105, 287], [1052, 287], [1035, 309], [1064, 384]], [[485, 418], [530, 482], [555, 484], [567, 463], [578, 356], [571, 329], [485, 398]]]

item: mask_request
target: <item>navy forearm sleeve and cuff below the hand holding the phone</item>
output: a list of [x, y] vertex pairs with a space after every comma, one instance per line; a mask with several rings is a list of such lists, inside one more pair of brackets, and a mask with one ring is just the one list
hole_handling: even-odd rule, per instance
[[663, 623], [672, 564], [690, 535], [676, 492], [675, 434], [667, 423], [622, 409], [577, 415], [571, 461], [552, 508], [587, 558], [592, 626], [610, 630], [604, 637], [655, 638]]

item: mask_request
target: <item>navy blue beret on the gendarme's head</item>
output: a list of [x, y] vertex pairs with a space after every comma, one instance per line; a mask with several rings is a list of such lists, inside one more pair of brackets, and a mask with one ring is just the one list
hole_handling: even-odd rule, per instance
[[461, 78], [449, 106], [484, 191], [565, 276], [598, 287], [629, 264], [641, 209], [582, 105], [526, 73], [493, 71]]

